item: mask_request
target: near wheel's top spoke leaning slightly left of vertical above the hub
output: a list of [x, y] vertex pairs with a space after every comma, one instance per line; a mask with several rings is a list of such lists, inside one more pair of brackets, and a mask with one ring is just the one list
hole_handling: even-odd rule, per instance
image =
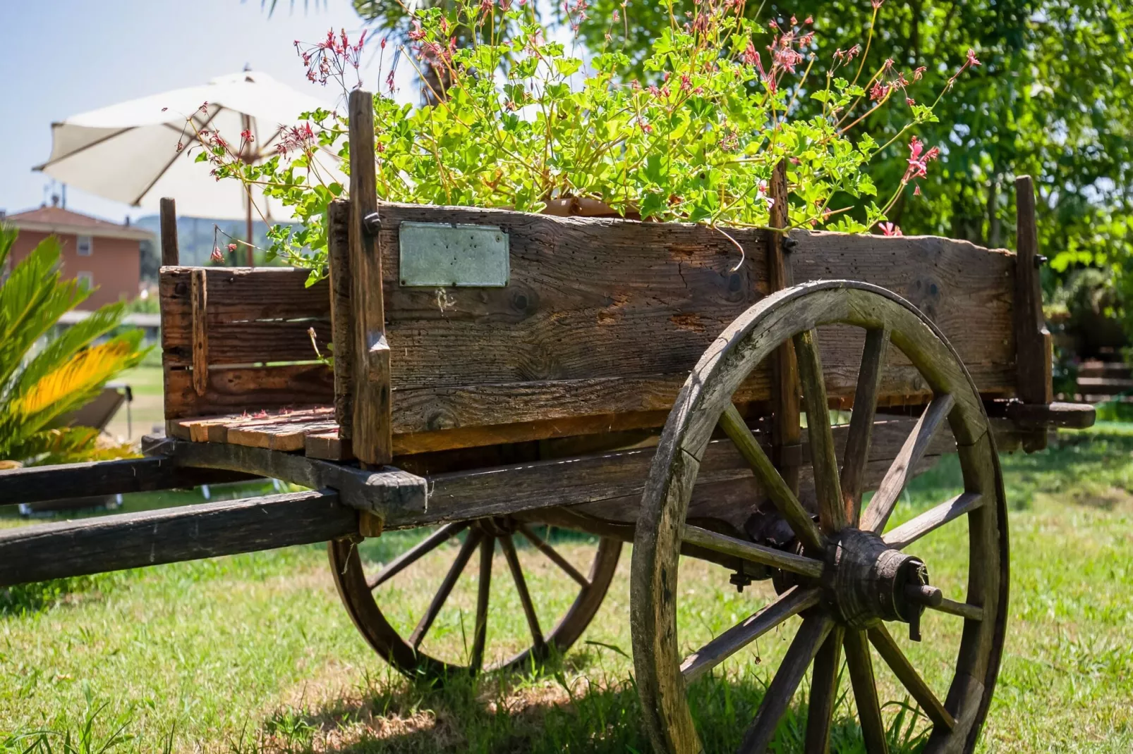
[[807, 406], [807, 438], [810, 442], [810, 463], [815, 471], [818, 521], [824, 532], [833, 533], [845, 528], [846, 512], [838, 481], [838, 459], [834, 452], [830, 411], [826, 403], [823, 360], [818, 354], [818, 331], [808, 329], [795, 335], [794, 353], [799, 358], [799, 382], [802, 383], [802, 400]]

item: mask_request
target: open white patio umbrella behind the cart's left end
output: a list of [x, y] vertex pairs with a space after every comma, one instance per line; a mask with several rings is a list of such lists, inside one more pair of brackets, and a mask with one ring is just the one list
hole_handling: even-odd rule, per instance
[[[266, 74], [246, 70], [52, 123], [51, 156], [35, 170], [135, 207], [156, 211], [161, 197], [170, 196], [182, 215], [244, 219], [250, 240], [253, 220], [287, 221], [291, 213], [256, 188], [249, 192], [235, 179], [218, 181], [207, 164], [194, 162], [201, 145], [187, 119], [197, 130], [218, 131], [233, 148], [240, 132], [250, 130], [252, 145], [241, 156], [259, 162], [275, 154], [281, 134], [300, 122], [300, 113], [317, 108], [329, 109]], [[342, 180], [337, 156], [322, 153], [320, 166], [331, 180]]]

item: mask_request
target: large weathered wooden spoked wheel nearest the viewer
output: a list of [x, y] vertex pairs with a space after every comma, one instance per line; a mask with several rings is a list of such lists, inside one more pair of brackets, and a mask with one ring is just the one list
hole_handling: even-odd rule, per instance
[[[833, 324], [867, 332], [841, 471], [815, 331]], [[787, 339], [793, 339], [799, 361], [817, 525], [732, 404], [743, 379]], [[926, 379], [934, 399], [861, 513], [861, 480], [891, 341]], [[963, 494], [885, 532], [910, 470], [945, 419], [959, 449]], [[793, 530], [795, 542], [790, 551], [685, 523], [700, 460], [717, 426]], [[921, 537], [965, 514], [968, 594], [953, 601], [928, 585], [926, 564], [911, 550]], [[680, 654], [675, 605], [682, 541], [773, 568], [778, 592], [769, 605], [685, 658]], [[991, 700], [1004, 639], [1007, 519], [999, 462], [979, 393], [940, 332], [896, 294], [850, 281], [796, 285], [764, 299], [732, 323], [700, 359], [668, 415], [645, 489], [630, 594], [637, 686], [646, 728], [658, 753], [701, 751], [688, 684], [795, 615], [801, 626], [742, 738], [741, 752], [767, 749], [812, 661], [806, 751], [827, 751], [843, 649], [866, 749], [886, 752], [870, 644], [931, 721], [926, 751], [971, 752]], [[926, 607], [964, 622], [943, 702], [886, 628], [886, 622], [915, 627]]]

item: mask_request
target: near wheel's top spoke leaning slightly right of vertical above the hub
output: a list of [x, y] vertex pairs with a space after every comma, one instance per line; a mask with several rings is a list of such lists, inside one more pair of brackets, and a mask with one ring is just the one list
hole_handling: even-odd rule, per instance
[[846, 520], [854, 526], [861, 517], [861, 490], [866, 483], [866, 464], [869, 463], [869, 440], [877, 413], [877, 395], [885, 372], [885, 354], [889, 348], [889, 331], [871, 329], [866, 333], [866, 346], [858, 369], [858, 388], [850, 415], [850, 434], [842, 461], [842, 499]]

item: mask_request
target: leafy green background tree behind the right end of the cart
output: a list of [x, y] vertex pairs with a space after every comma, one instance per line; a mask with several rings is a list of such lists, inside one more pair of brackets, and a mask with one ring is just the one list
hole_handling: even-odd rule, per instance
[[[767, 23], [813, 16], [815, 86], [834, 52], [866, 45], [875, 12], [867, 0], [750, 3]], [[617, 46], [640, 61], [672, 17], [695, 6], [595, 0], [581, 33], [590, 49]], [[913, 96], [938, 92], [969, 49], [981, 65], [944, 96], [936, 123], [918, 136], [942, 149], [939, 164], [889, 213], [905, 233], [942, 233], [1002, 246], [1014, 235], [1013, 179], [1036, 178], [1039, 231], [1056, 271], [1072, 264], [1117, 263], [1133, 279], [1133, 9], [1125, 0], [912, 0], [877, 9], [875, 36], [860, 59], [864, 80], [886, 58], [910, 79], [926, 67]], [[607, 34], [610, 38], [607, 40]], [[766, 54], [766, 52], [765, 52]], [[923, 94], [917, 94], [917, 93]], [[807, 102], [806, 97], [802, 98]], [[863, 103], [860, 110], [864, 110]], [[818, 109], [818, 103], [809, 106]], [[863, 123], [879, 143], [908, 113], [887, 108]], [[892, 185], [906, 168], [902, 144], [871, 169]], [[1133, 280], [1128, 281], [1133, 292]]]

